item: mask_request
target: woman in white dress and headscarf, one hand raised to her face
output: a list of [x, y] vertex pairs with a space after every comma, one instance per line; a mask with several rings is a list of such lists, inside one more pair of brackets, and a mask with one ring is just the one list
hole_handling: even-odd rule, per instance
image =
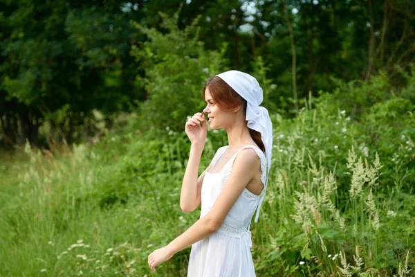
[[[228, 145], [197, 178], [208, 127], [202, 113], [185, 125], [192, 146], [181, 190], [181, 208], [200, 219], [166, 247], [148, 256], [152, 271], [192, 245], [187, 276], [255, 276], [250, 253], [250, 222], [264, 200], [273, 144], [268, 111], [259, 105], [262, 89], [241, 71], [226, 71], [206, 82], [203, 95], [211, 129], [223, 128]], [[200, 125], [201, 123], [201, 125]]]

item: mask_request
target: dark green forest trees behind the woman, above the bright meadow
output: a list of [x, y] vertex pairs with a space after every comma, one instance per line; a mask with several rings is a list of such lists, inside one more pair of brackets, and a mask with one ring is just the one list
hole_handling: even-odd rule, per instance
[[[288, 116], [309, 91], [332, 91], [333, 78], [368, 81], [382, 70], [405, 87], [395, 65], [407, 72], [414, 62], [414, 8], [412, 0], [1, 0], [0, 142], [80, 142], [99, 130], [89, 124], [96, 110], [111, 127], [114, 112], [133, 103], [153, 112], [145, 100], [196, 93], [225, 69], [270, 80], [260, 80], [264, 103]], [[159, 87], [164, 79], [172, 87]], [[163, 101], [158, 114], [183, 123], [192, 99]]]

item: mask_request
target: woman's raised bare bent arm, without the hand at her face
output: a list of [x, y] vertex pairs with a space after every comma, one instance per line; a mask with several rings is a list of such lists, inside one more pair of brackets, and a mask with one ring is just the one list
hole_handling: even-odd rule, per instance
[[192, 143], [180, 194], [180, 207], [185, 212], [194, 211], [201, 204], [201, 188], [203, 179], [205, 178], [205, 172], [206, 170], [210, 170], [212, 166], [208, 166], [201, 176], [199, 178], [197, 177], [202, 152], [203, 146]]

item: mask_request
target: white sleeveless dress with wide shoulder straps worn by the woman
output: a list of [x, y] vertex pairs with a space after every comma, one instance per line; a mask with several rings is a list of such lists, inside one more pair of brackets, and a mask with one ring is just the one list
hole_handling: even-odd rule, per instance
[[[212, 169], [228, 145], [219, 148], [212, 159]], [[237, 154], [244, 148], [253, 148], [261, 159], [261, 181], [264, 189], [260, 195], [246, 188], [230, 209], [221, 228], [212, 235], [192, 244], [187, 277], [251, 277], [255, 276], [250, 222], [257, 209], [257, 215], [266, 191], [266, 157], [257, 145], [246, 145], [239, 149], [223, 166], [221, 172], [205, 172], [201, 190], [201, 216], [212, 208], [222, 187], [227, 181]], [[262, 202], [262, 201], [261, 201]], [[257, 218], [255, 219], [255, 222]]]

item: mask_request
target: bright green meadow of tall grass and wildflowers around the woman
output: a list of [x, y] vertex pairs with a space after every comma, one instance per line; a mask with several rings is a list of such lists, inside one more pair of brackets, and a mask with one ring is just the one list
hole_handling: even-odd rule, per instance
[[[270, 114], [257, 276], [414, 276], [414, 80], [398, 95], [382, 75], [349, 82], [310, 95], [295, 118]], [[184, 124], [143, 132], [122, 118], [122, 131], [90, 143], [1, 155], [0, 276], [186, 276], [190, 247], [155, 273], [147, 265], [199, 219], [179, 206]], [[226, 144], [208, 130], [199, 173]]]

